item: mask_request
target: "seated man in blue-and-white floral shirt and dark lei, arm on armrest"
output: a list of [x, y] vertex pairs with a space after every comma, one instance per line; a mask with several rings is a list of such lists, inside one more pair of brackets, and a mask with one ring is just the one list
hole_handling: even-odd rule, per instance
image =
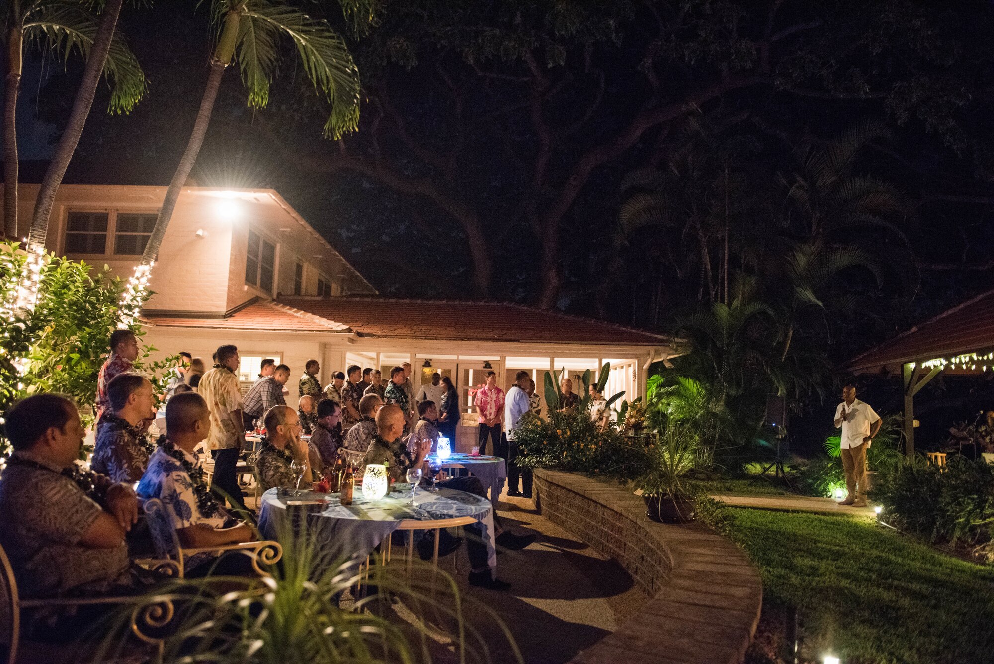
[[[211, 430], [211, 413], [204, 398], [189, 392], [170, 399], [166, 406], [166, 429], [169, 435], [159, 439], [148, 461], [148, 470], [138, 483], [138, 496], [142, 500], [162, 501], [183, 548], [254, 540], [251, 528], [232, 518], [218, 504], [204, 479], [201, 459], [194, 451]], [[195, 554], [184, 564], [187, 578], [254, 574], [248, 556], [238, 552], [220, 558], [212, 553]]]

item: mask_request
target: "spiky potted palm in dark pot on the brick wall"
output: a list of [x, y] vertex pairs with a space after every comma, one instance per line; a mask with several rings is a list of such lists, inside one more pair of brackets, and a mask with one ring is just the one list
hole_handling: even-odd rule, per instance
[[694, 520], [694, 498], [699, 490], [691, 477], [700, 441], [687, 426], [671, 421], [649, 446], [648, 470], [637, 480], [645, 513], [660, 523]]

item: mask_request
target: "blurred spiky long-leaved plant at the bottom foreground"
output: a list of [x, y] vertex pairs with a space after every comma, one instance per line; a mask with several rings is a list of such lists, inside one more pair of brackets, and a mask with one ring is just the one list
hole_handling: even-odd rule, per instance
[[[271, 579], [175, 581], [150, 591], [178, 607], [156, 661], [180, 664], [209, 653], [219, 664], [426, 664], [432, 661], [429, 643], [444, 637], [446, 661], [490, 662], [488, 644], [465, 619], [468, 614], [498, 625], [506, 643], [489, 645], [523, 662], [494, 610], [462, 596], [444, 572], [417, 562], [406, 576], [403, 566], [374, 555], [369, 594], [349, 601], [346, 594], [363, 581], [361, 568], [330, 560], [313, 534], [280, 534], [278, 540], [283, 557]], [[392, 602], [404, 606], [403, 616]], [[145, 596], [135, 603], [154, 602]], [[132, 610], [124, 606], [101, 632], [95, 661], [116, 661], [124, 653]]]

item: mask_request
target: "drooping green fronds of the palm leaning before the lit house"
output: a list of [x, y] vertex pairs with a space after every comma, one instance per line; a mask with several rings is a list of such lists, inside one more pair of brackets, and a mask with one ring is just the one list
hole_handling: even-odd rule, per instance
[[[307, 78], [331, 103], [331, 114], [324, 125], [325, 136], [338, 139], [343, 133], [358, 129], [359, 69], [353, 62], [345, 41], [325, 21], [312, 19], [292, 7], [273, 6], [262, 0], [249, 2], [242, 19], [252, 24], [250, 35], [281, 34], [293, 42]], [[246, 32], [245, 35], [248, 36], [249, 33]], [[242, 76], [247, 85], [257, 82], [260, 77], [271, 79], [277, 59], [275, 53], [271, 58], [267, 57], [264, 50], [272, 48], [274, 43], [274, 39], [261, 39], [254, 47], [255, 53], [249, 53], [253, 57], [248, 63], [241, 62], [241, 55], [248, 52], [247, 47], [240, 45], [239, 65], [243, 68]], [[247, 72], [246, 67], [256, 68], [257, 71]], [[249, 95], [260, 91], [260, 88], [249, 88]], [[268, 98], [267, 86], [265, 95]]]

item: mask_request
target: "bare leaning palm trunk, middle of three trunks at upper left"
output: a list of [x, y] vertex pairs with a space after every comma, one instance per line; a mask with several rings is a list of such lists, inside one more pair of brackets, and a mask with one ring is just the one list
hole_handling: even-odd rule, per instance
[[80, 89], [77, 90], [76, 100], [73, 102], [73, 111], [70, 113], [69, 122], [66, 123], [66, 130], [63, 132], [62, 138], [59, 139], [59, 145], [52, 156], [52, 161], [49, 162], [49, 167], [45, 171], [42, 186], [38, 190], [35, 216], [31, 221], [31, 233], [28, 235], [29, 247], [45, 245], [56, 193], [66, 175], [66, 169], [69, 168], [69, 162], [76, 152], [76, 147], [80, 144], [83, 126], [86, 124], [89, 109], [93, 106], [96, 85], [100, 83], [100, 75], [107, 62], [110, 41], [117, 28], [117, 17], [120, 16], [123, 1], [107, 0], [103, 14], [100, 15], [100, 25], [96, 29], [96, 39], [93, 40], [93, 46], [89, 50], [89, 59], [83, 68], [83, 79], [80, 81]]

